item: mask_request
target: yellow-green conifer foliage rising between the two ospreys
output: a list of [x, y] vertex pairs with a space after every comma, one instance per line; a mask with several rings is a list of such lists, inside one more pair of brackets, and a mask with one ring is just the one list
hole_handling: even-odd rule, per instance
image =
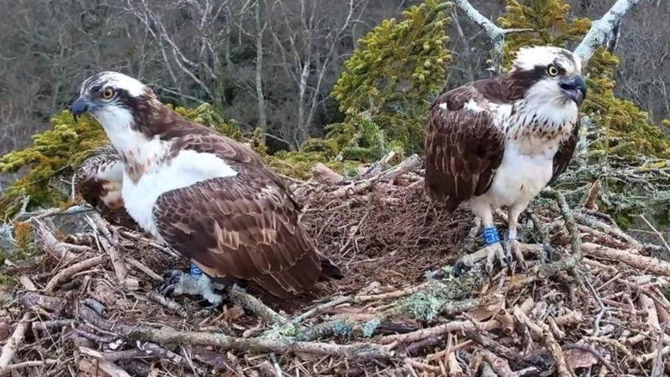
[[331, 136], [338, 129], [365, 128], [346, 124], [360, 121], [357, 114], [369, 111], [386, 139], [400, 142], [409, 152], [421, 150], [428, 101], [442, 88], [450, 60], [447, 6], [426, 0], [403, 12], [402, 21], [384, 20], [359, 41], [332, 93], [347, 117], [344, 125], [332, 128]]

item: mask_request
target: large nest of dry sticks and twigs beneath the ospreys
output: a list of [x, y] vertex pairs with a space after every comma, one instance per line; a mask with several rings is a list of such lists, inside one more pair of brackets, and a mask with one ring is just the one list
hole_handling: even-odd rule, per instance
[[478, 227], [467, 210], [448, 214], [428, 202], [417, 157], [391, 169], [373, 165], [357, 181], [326, 169], [292, 188], [317, 247], [345, 277], [293, 300], [253, 286], [230, 288], [216, 309], [192, 297], [163, 297], [161, 274], [186, 267], [163, 245], [95, 214], [90, 231], [59, 236], [34, 216], [23, 224], [41, 253], [5, 263], [3, 271], [17, 283], [3, 292], [0, 372], [670, 372], [670, 264], [651, 256], [662, 247], [638, 242], [607, 215], [570, 208], [562, 194], [547, 190], [522, 216], [526, 269], [513, 262], [492, 276], [477, 267], [457, 275], [452, 263], [476, 252]]

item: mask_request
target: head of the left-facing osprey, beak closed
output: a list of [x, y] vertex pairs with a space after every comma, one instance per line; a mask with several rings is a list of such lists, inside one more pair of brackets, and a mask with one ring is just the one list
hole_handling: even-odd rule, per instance
[[84, 80], [71, 112], [76, 120], [88, 111], [102, 126], [111, 129], [130, 124], [139, 102], [153, 97], [151, 89], [135, 78], [118, 72], [100, 72]]

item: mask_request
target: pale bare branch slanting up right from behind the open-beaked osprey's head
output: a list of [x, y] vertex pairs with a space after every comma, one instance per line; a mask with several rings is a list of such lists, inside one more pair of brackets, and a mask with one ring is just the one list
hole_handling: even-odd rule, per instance
[[582, 65], [586, 65], [599, 46], [608, 43], [623, 16], [638, 3], [640, 0], [616, 0], [616, 3], [601, 19], [593, 22], [586, 36], [575, 49], [575, 55], [581, 58]]

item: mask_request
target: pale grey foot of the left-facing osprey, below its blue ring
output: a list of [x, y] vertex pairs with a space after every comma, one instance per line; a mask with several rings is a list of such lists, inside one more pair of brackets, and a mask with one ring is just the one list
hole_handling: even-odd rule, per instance
[[225, 288], [222, 284], [212, 282], [207, 275], [193, 276], [183, 271], [172, 271], [167, 282], [161, 288], [164, 296], [194, 295], [201, 296], [209, 302], [208, 308], [216, 308], [224, 297], [215, 290]]

